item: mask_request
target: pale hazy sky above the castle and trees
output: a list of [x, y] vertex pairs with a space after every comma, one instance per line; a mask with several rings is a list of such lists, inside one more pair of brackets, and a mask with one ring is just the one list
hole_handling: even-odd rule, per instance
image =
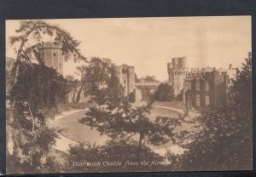
[[[81, 43], [85, 57], [108, 58], [135, 66], [138, 77], [168, 78], [167, 63], [187, 57], [189, 67], [240, 67], [252, 50], [251, 16], [150, 17], [46, 20], [61, 26]], [[15, 58], [9, 37], [20, 20], [6, 21], [6, 56]], [[45, 38], [45, 42], [51, 38]], [[203, 64], [203, 65], [202, 65]], [[64, 76], [84, 62], [64, 62]]]

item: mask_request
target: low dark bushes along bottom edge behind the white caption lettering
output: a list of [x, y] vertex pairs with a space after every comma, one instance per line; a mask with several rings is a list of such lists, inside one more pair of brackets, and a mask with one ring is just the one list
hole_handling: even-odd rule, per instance
[[[71, 146], [68, 157], [68, 162], [71, 165], [72, 172], [81, 172], [81, 168], [87, 172], [123, 172], [125, 171], [140, 171], [149, 170], [151, 167], [146, 166], [125, 166], [125, 162], [141, 163], [141, 159], [137, 157], [137, 142], [134, 140], [108, 140], [102, 146], [90, 146], [79, 144]], [[154, 153], [147, 146], [143, 146], [141, 150], [141, 157], [143, 160], [161, 161], [163, 157]], [[99, 166], [90, 166], [90, 163], [100, 162]], [[119, 162], [118, 165], [107, 165], [108, 163]], [[79, 166], [79, 163], [84, 163], [84, 166]], [[88, 164], [88, 165], [86, 165]], [[70, 165], [69, 165], [70, 166]]]

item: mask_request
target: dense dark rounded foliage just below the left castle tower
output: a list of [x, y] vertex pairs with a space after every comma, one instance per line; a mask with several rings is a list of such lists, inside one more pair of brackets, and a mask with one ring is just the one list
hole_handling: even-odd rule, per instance
[[67, 80], [54, 69], [36, 64], [20, 67], [17, 83], [11, 90], [12, 101], [26, 101], [32, 113], [52, 108], [67, 98]]

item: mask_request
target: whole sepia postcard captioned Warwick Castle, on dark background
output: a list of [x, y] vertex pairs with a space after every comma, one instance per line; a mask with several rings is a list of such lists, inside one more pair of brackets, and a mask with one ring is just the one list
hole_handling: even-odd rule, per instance
[[7, 174], [252, 170], [251, 20], [6, 20]]

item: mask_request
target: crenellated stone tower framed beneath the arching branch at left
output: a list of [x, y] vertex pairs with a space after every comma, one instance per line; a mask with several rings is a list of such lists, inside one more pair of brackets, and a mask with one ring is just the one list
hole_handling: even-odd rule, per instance
[[39, 45], [39, 54], [45, 66], [55, 69], [63, 75], [63, 54], [61, 45], [55, 43], [42, 43]]

